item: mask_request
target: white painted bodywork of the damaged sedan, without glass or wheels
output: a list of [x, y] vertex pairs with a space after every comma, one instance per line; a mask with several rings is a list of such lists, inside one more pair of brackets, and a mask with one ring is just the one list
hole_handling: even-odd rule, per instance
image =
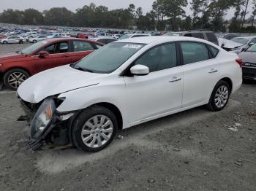
[[[211, 44], [219, 49], [219, 55], [208, 61], [155, 71], [146, 76], [120, 77], [121, 72], [143, 52], [158, 44], [173, 41]], [[119, 42], [143, 43], [146, 46], [110, 74], [91, 74], [70, 66], [43, 71], [23, 82], [18, 88], [18, 95], [31, 103], [39, 103], [50, 95], [64, 97], [66, 99], [57, 108], [59, 112], [85, 109], [102, 102], [113, 104], [121, 112], [123, 128], [129, 128], [207, 104], [214, 86], [224, 77], [233, 82], [233, 92], [241, 86], [242, 72], [236, 63], [238, 56], [211, 42], [184, 36], [151, 36]], [[212, 70], [217, 72], [210, 74]], [[170, 82], [173, 77], [181, 79]]]

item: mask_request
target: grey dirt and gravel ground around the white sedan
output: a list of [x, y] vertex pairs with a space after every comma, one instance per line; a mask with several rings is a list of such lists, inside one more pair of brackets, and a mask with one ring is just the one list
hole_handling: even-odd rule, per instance
[[256, 190], [256, 82], [221, 112], [200, 107], [119, 131], [97, 153], [31, 152], [15, 92], [0, 100], [0, 190]]

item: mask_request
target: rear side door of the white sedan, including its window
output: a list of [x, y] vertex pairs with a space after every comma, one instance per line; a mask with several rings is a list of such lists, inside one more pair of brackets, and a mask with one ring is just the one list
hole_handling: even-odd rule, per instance
[[219, 64], [214, 58], [218, 52], [212, 55], [207, 45], [200, 42], [180, 42], [179, 44], [184, 63], [182, 106], [202, 104], [208, 101], [219, 79]]

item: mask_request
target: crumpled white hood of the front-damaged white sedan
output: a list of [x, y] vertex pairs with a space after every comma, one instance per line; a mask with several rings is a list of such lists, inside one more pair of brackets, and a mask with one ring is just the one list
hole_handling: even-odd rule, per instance
[[24, 101], [37, 104], [50, 95], [97, 85], [107, 74], [94, 74], [60, 66], [36, 74], [18, 87], [18, 95]]

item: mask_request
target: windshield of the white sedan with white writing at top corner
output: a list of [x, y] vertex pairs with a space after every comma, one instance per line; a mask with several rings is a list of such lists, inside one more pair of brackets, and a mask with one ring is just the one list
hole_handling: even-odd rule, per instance
[[140, 50], [145, 44], [112, 42], [94, 51], [73, 66], [75, 69], [108, 74], [118, 69], [125, 61]]

